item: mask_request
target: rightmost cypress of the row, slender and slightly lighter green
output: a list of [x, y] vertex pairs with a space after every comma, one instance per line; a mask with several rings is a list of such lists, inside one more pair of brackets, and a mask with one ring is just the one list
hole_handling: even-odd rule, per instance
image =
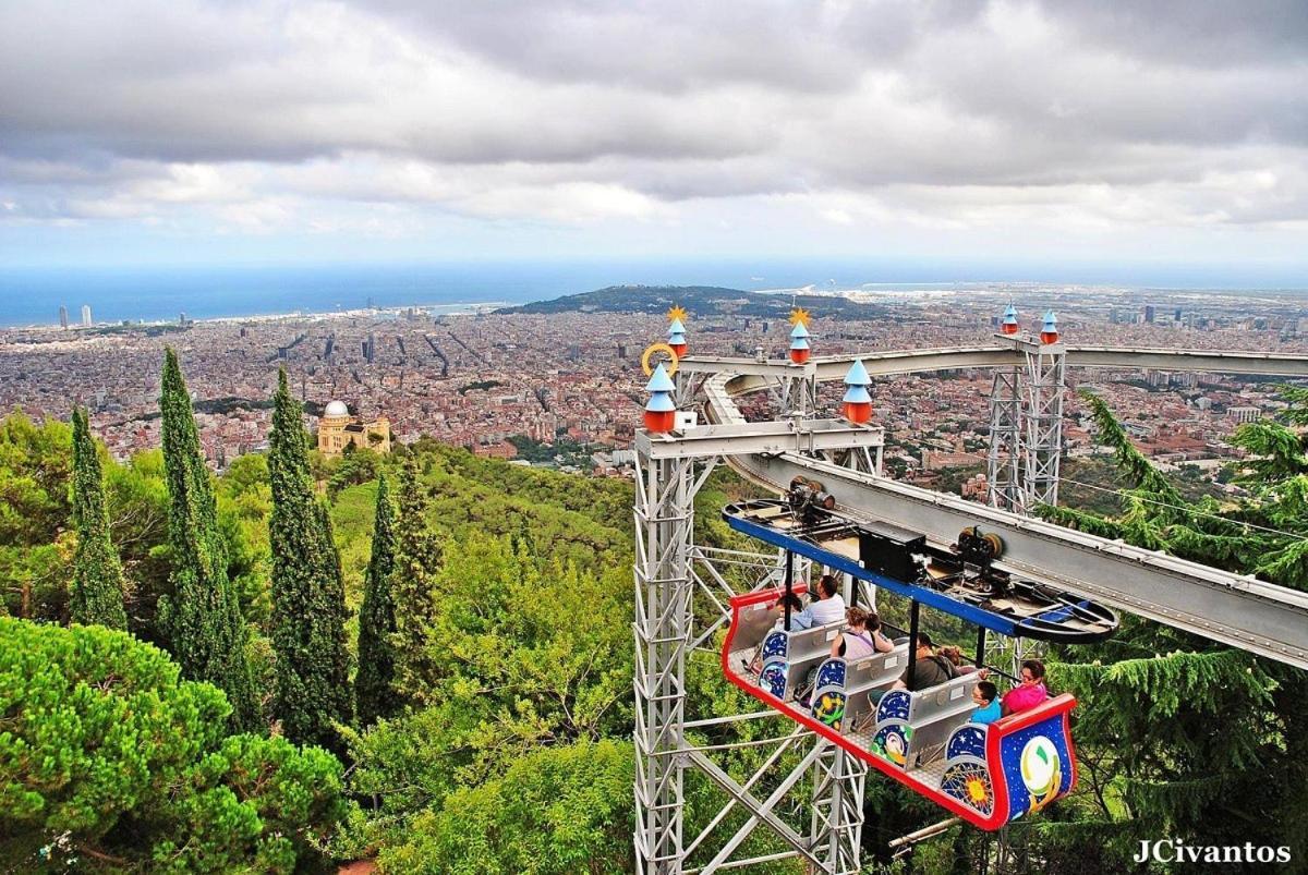
[[425, 701], [441, 672], [428, 643], [434, 626], [436, 577], [442, 555], [441, 541], [426, 522], [426, 496], [417, 466], [405, 462], [400, 471], [390, 590], [395, 600], [395, 684], [416, 702]]

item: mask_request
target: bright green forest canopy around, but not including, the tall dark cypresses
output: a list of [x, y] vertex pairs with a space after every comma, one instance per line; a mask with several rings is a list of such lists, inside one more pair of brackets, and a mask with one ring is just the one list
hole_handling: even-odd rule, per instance
[[[1096, 515], [1046, 509], [1046, 515], [1308, 589], [1308, 459], [1301, 436], [1282, 425], [1247, 426], [1237, 439], [1258, 456], [1245, 477], [1249, 496], [1190, 505], [1176, 502], [1176, 487], [1131, 453], [1113, 430], [1107, 407], [1095, 409], [1103, 439], [1118, 454], [1121, 510]], [[1304, 411], [1303, 399], [1296, 399], [1290, 416], [1304, 417]], [[0, 594], [4, 612], [30, 620], [0, 626], [0, 674], [10, 679], [0, 713], [21, 710], [37, 697], [76, 702], [103, 714], [92, 729], [119, 732], [118, 749], [140, 748], [146, 756], [131, 765], [115, 763], [103, 736], [61, 729], [51, 735], [47, 726], [38, 739], [34, 722], [24, 723], [30, 730], [3, 736], [0, 772], [20, 776], [5, 790], [18, 795], [0, 807], [0, 848], [7, 855], [64, 854], [89, 866], [160, 867], [161, 858], [188, 861], [187, 854], [200, 853], [183, 838], [187, 829], [225, 817], [241, 828], [221, 846], [203, 845], [205, 859], [271, 871], [330, 857], [375, 858], [383, 871], [570, 872], [582, 861], [595, 872], [630, 868], [630, 484], [509, 466], [430, 441], [390, 458], [314, 459], [319, 485], [336, 487], [331, 522], [352, 649], [378, 471], [398, 483], [398, 466], [415, 466], [424, 524], [442, 544], [439, 568], [430, 569], [430, 612], [412, 643], [421, 653], [409, 654], [437, 670], [424, 676], [422, 689], [398, 691], [407, 705], [394, 718], [368, 730], [341, 727], [348, 749], [340, 761], [318, 748], [269, 739], [267, 714], [259, 732], [224, 735], [215, 730], [222, 722], [216, 715], [228, 708], [221, 693], [178, 680], [161, 650], [98, 628], [59, 628], [67, 623], [76, 548], [71, 447], [64, 424], [31, 422], [20, 413], [0, 421]], [[103, 467], [129, 632], [137, 642], [166, 645], [157, 628], [157, 603], [170, 594], [160, 454], [141, 453], [127, 463], [106, 459]], [[215, 483], [228, 575], [251, 630], [256, 687], [267, 696], [267, 460], [242, 456]], [[736, 543], [717, 509], [738, 488], [726, 476], [709, 481], [700, 496], [697, 540]], [[1245, 522], [1287, 535], [1269, 535]], [[77, 659], [63, 655], [69, 649]], [[61, 674], [39, 676], [26, 657], [12, 655], [20, 651], [43, 654], [63, 666]], [[1053, 653], [1050, 663], [1052, 683], [1080, 700], [1075, 731], [1082, 781], [1069, 800], [1014, 828], [1014, 841], [1032, 850], [1029, 871], [1126, 871], [1138, 840], [1159, 836], [1210, 844], [1253, 838], [1291, 846], [1296, 859], [1308, 855], [1303, 672], [1134, 619], [1114, 640]], [[106, 685], [109, 678], [114, 680]], [[723, 683], [712, 658], [691, 662], [688, 684], [695, 713], [753, 710]], [[141, 696], [161, 702], [162, 723], [114, 726]], [[51, 714], [59, 708], [68, 705]], [[186, 729], [192, 740], [184, 749], [157, 739], [171, 732], [164, 725], [184, 729], [188, 721], [203, 726]], [[700, 740], [749, 740], [778, 730], [778, 721], [751, 721]], [[127, 740], [124, 732], [135, 735]], [[61, 746], [51, 755], [68, 764], [55, 783], [14, 765], [27, 756], [16, 744], [48, 744], [51, 738]], [[744, 776], [760, 756], [744, 748], [732, 755], [729, 770]], [[347, 765], [352, 770], [341, 778]], [[301, 787], [296, 798], [313, 803], [293, 808], [289, 820], [268, 820], [283, 803], [260, 795], [256, 787], [266, 785], [243, 783], [241, 776], [250, 774], [286, 776], [279, 786]], [[160, 782], [179, 776], [192, 776], [184, 778], [187, 786], [203, 799], [181, 807], [162, 800]], [[692, 773], [687, 795], [693, 831], [721, 795]], [[80, 802], [106, 798], [115, 806]], [[867, 781], [867, 807], [870, 858], [883, 861], [886, 840], [939, 817], [933, 806], [875, 776]], [[131, 827], [139, 823], [150, 828]], [[731, 823], [742, 821], [719, 828], [734, 828]], [[480, 841], [485, 834], [497, 841]], [[956, 828], [918, 850], [920, 866], [968, 871], [973, 863], [965, 861], [978, 861], [988, 841]], [[769, 853], [781, 846], [756, 831], [748, 849]], [[791, 861], [766, 868], [798, 871]]]

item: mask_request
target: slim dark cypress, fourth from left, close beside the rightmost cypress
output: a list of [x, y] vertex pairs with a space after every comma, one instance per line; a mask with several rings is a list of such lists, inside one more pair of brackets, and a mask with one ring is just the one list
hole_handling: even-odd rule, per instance
[[395, 600], [391, 572], [395, 569], [395, 507], [386, 475], [377, 479], [377, 511], [373, 514], [373, 553], [364, 575], [364, 604], [358, 608], [358, 723], [370, 726], [392, 712], [391, 683], [395, 679]]

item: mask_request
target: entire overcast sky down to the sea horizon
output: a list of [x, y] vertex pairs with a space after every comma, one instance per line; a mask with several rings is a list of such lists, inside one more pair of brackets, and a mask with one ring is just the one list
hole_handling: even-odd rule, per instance
[[602, 254], [1298, 269], [1308, 3], [0, 3], [10, 264]]

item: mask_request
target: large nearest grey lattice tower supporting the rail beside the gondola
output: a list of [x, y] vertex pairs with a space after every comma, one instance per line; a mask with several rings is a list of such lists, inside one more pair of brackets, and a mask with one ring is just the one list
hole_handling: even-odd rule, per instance
[[[689, 394], [689, 386], [679, 388], [683, 398]], [[785, 395], [815, 396], [811, 374], [777, 388]], [[718, 646], [715, 636], [730, 621], [727, 602], [735, 591], [726, 569], [748, 566], [755, 587], [776, 586], [786, 574], [783, 553], [693, 544], [695, 494], [723, 455], [774, 449], [778, 441], [815, 456], [840, 455], [850, 467], [862, 468], [879, 463], [883, 438], [879, 429], [803, 417], [637, 436], [634, 846], [637, 871], [644, 874], [713, 872], [787, 857], [803, 859], [812, 872], [853, 875], [859, 870], [866, 764], [815, 732], [791, 726], [777, 738], [739, 743], [772, 751], [753, 774], [738, 780], [714, 759], [735, 744], [697, 746], [693, 736], [777, 714], [761, 710], [688, 719], [685, 712], [687, 662]], [[791, 572], [797, 579], [810, 573], [807, 562], [794, 562]], [[725, 798], [696, 836], [687, 834], [684, 819], [688, 770], [702, 773]], [[803, 794], [798, 806], [797, 794]], [[807, 823], [797, 825], [794, 816], [803, 812]], [[734, 833], [727, 834], [723, 825], [734, 825]], [[742, 846], [759, 825], [787, 848], [742, 859]], [[691, 870], [692, 859], [705, 862]]]

